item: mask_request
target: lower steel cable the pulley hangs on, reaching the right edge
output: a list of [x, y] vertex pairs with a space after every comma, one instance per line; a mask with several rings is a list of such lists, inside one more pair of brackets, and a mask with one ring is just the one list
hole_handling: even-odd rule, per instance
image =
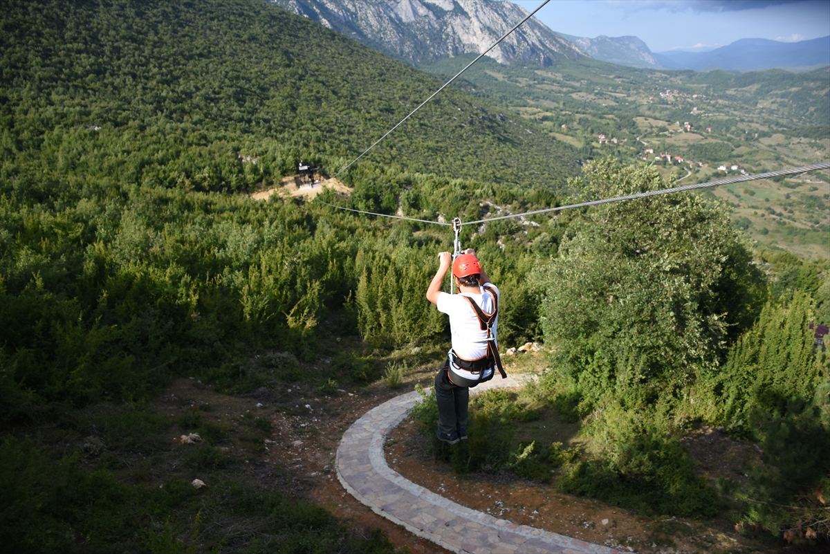
[[[779, 169], [778, 171], [770, 171], [767, 173], [757, 173], [755, 175], [741, 175], [740, 177], [729, 177], [726, 179], [719, 179], [718, 181], [710, 181], [710, 182], [699, 182], [694, 185], [685, 185], [683, 187], [671, 187], [671, 188], [663, 188], [659, 191], [647, 191], [647, 192], [637, 192], [636, 194], [628, 194], [624, 197], [613, 197], [613, 198], [603, 198], [602, 200], [591, 200], [588, 202], [579, 202], [579, 204], [569, 204], [568, 206], [560, 206], [554, 208], [546, 208], [544, 210], [534, 210], [534, 211], [525, 211], [522, 213], [514, 213], [510, 214], [509, 216], [498, 216], [498, 217], [488, 217], [487, 219], [480, 219], [476, 221], [465, 221], [464, 225], [476, 225], [478, 223], [489, 223], [491, 221], [499, 221], [500, 219], [511, 219], [513, 217], [524, 217], [524, 216], [535, 216], [536, 214], [540, 213], [548, 213], [550, 211], [562, 211], [562, 210], [570, 210], [572, 208], [578, 207], [588, 207], [588, 206], [598, 206], [599, 204], [608, 204], [609, 202], [623, 202], [625, 200], [635, 200], [637, 198], [646, 198], [646, 197], [657, 197], [663, 194], [671, 194], [673, 192], [686, 192], [686, 191], [695, 191], [701, 188], [710, 188], [710, 187], [719, 187], [720, 185], [729, 185], [733, 182], [746, 182], [746, 181], [757, 181], [758, 179], [769, 179], [772, 177], [784, 177], [785, 175], [797, 175], [798, 173], [807, 173], [810, 171], [818, 171], [819, 169], [830, 169], [830, 162], [822, 162], [822, 163], [814, 163], [813, 165], [805, 165], [798, 168], [789, 168], [789, 169]], [[415, 219], [413, 217], [405, 217], [405, 216], [390, 216], [385, 213], [375, 213], [374, 211], [362, 211], [362, 210], [355, 210], [353, 208], [347, 208], [342, 206], [335, 206], [334, 204], [330, 204], [328, 202], [320, 203], [325, 204], [326, 206], [335, 207], [339, 210], [348, 210], [348, 211], [356, 211], [357, 213], [363, 213], [370, 216], [381, 216], [381, 217], [390, 217], [392, 219], [403, 219], [407, 221], [418, 221], [420, 223], [432, 223], [432, 225], [443, 225], [443, 226], [454, 226], [458, 225], [461, 226], [461, 221], [458, 220], [457, 224], [453, 223], [444, 223], [442, 221], [430, 221], [426, 219]]]

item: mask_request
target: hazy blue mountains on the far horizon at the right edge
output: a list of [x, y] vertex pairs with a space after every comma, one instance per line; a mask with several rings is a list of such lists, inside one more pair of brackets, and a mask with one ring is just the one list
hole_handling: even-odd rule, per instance
[[742, 38], [708, 52], [668, 51], [654, 55], [666, 69], [730, 71], [799, 68], [830, 64], [830, 36], [812, 41], [779, 42], [764, 38]]

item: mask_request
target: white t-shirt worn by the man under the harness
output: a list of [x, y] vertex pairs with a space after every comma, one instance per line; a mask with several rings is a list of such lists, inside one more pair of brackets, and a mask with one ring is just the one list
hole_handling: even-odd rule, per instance
[[[488, 283], [487, 286], [495, 289], [496, 295], [500, 297], [499, 289], [495, 284]], [[477, 360], [487, 354], [487, 331], [486, 329], [481, 330], [481, 323], [479, 323], [475, 310], [461, 296], [472, 299], [484, 310], [484, 313], [492, 313], [495, 305], [493, 304], [492, 295], [484, 289], [481, 289], [481, 294], [438, 294], [438, 311], [450, 316], [452, 349], [458, 356], [466, 360]], [[496, 321], [493, 322], [494, 337], [496, 337], [496, 325], [498, 323], [499, 318], [496, 316]]]

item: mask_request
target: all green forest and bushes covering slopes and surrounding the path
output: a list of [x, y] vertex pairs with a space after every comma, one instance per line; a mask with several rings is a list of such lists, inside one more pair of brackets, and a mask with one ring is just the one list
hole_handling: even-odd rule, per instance
[[[212, 444], [159, 488], [78, 438], [152, 469], [176, 422], [149, 404], [178, 377], [241, 395], [267, 386], [267, 370], [336, 391], [378, 381], [403, 349], [422, 349], [410, 364], [440, 362], [447, 323], [423, 290], [450, 233], [247, 196], [301, 158], [336, 173], [440, 83], [255, 0], [0, 9], [0, 540], [16, 552], [392, 552], [290, 493], [232, 478], [194, 492], [190, 469], [247, 463]], [[344, 173], [348, 200], [319, 198], [471, 221], [666, 186], [654, 168], [608, 157], [582, 170], [578, 157], [540, 124], [447, 89]], [[556, 345], [536, 400], [600, 437], [556, 486], [649, 516], [707, 518], [720, 502], [753, 532], [826, 542], [830, 362], [806, 329], [830, 322], [830, 262], [754, 249], [723, 202], [662, 198], [462, 237], [510, 299], [500, 342]], [[325, 326], [360, 346], [318, 369]], [[679, 440], [694, 422], [753, 440], [771, 473], [749, 489], [706, 484]], [[251, 440], [270, 429], [242, 425]], [[533, 477], [554, 454], [511, 467]], [[205, 532], [198, 547], [220, 517], [261, 527]]]

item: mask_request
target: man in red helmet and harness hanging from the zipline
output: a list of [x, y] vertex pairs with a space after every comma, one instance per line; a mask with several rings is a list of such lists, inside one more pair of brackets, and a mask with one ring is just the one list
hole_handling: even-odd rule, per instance
[[[507, 377], [496, 341], [500, 293], [481, 267], [475, 250], [465, 250], [455, 260], [449, 252], [441, 252], [438, 260], [438, 270], [427, 288], [427, 300], [450, 317], [452, 347], [435, 376], [437, 436], [455, 445], [467, 438], [470, 389], [490, 381], [496, 370], [503, 379]], [[441, 290], [451, 264], [458, 294]]]

